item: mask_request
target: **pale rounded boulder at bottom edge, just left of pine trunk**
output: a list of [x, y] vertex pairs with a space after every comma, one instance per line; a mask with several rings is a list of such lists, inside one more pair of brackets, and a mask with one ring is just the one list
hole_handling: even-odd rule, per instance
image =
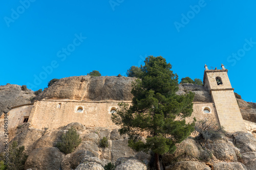
[[116, 161], [116, 170], [146, 170], [146, 165], [135, 159], [133, 157], [130, 158], [118, 158]]

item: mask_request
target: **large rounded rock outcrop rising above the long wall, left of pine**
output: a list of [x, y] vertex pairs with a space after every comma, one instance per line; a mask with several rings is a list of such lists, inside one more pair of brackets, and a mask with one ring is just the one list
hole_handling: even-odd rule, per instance
[[136, 78], [116, 76], [75, 76], [60, 79], [37, 95], [35, 100], [126, 100], [133, 98], [132, 82]]

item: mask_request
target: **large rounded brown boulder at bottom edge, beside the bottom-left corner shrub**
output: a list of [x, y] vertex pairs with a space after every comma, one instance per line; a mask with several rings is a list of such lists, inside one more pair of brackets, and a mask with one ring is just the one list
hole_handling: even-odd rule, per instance
[[38, 148], [33, 150], [25, 162], [25, 169], [32, 168], [37, 170], [52, 169], [59, 170], [60, 164], [65, 154], [58, 148]]

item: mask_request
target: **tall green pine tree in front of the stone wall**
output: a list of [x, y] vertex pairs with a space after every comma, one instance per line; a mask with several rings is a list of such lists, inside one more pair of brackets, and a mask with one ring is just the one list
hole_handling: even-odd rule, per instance
[[[175, 152], [175, 144], [194, 131], [195, 122], [185, 123], [193, 111], [194, 94], [176, 94], [178, 76], [163, 57], [148, 56], [144, 62], [141, 79], [132, 85], [132, 105], [120, 103], [112, 120], [121, 127], [121, 134], [129, 135], [131, 148], [155, 153], [156, 168], [160, 169], [159, 155]], [[178, 115], [181, 120], [176, 120]], [[140, 140], [142, 134], [146, 134], [146, 142]]]

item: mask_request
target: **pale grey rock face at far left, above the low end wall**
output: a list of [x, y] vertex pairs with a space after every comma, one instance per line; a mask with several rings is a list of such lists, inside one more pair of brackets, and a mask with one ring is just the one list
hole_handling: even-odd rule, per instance
[[11, 110], [11, 107], [31, 103], [30, 99], [34, 97], [34, 91], [23, 91], [19, 85], [0, 86], [0, 116], [4, 111]]

